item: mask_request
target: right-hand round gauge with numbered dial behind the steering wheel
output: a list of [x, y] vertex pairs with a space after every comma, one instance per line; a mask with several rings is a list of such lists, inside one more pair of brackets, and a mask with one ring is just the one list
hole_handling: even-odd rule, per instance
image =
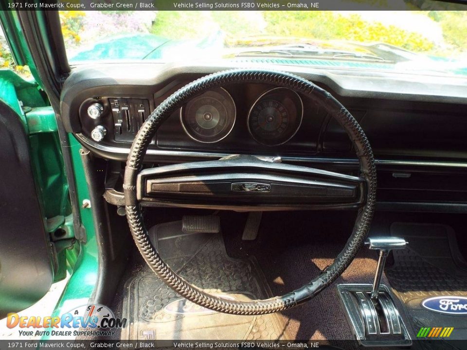
[[302, 124], [303, 103], [288, 88], [273, 88], [262, 94], [248, 114], [248, 130], [253, 139], [267, 146], [290, 140]]

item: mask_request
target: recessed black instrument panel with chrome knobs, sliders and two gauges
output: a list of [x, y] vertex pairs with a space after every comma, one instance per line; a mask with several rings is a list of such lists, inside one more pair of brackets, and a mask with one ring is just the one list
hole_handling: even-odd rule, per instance
[[[186, 83], [178, 84], [177, 88]], [[154, 106], [173, 91], [154, 99], [92, 96], [79, 106], [81, 133], [100, 145], [125, 146], [134, 139]], [[262, 84], [232, 85], [207, 91], [172, 113], [161, 125], [151, 147], [315, 154], [325, 119], [320, 106], [290, 89]]]

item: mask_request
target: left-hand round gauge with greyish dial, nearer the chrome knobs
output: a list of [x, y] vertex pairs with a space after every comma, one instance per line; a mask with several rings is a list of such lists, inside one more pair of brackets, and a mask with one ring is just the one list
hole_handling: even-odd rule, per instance
[[207, 91], [180, 109], [180, 122], [193, 140], [204, 143], [220, 141], [234, 127], [234, 100], [223, 88]]

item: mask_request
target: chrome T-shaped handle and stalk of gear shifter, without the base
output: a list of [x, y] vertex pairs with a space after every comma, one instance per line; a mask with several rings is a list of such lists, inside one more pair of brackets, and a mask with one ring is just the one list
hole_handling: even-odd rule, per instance
[[373, 288], [370, 295], [373, 301], [376, 301], [378, 298], [379, 284], [381, 283], [384, 265], [386, 264], [386, 258], [389, 252], [393, 249], [404, 249], [407, 244], [408, 242], [405, 239], [399, 237], [370, 237], [366, 240], [365, 245], [367, 245], [369, 249], [379, 250], [375, 280], [373, 281]]

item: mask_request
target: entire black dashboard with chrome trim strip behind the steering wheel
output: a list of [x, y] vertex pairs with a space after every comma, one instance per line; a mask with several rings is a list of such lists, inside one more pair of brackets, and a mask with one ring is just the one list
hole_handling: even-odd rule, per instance
[[[138, 129], [158, 105], [187, 83], [228, 68], [237, 67], [224, 62], [74, 69], [62, 90], [61, 118], [96, 156], [124, 162]], [[439, 77], [428, 83], [408, 74], [287, 70], [329, 91], [360, 123], [377, 159], [381, 202], [467, 210], [464, 80]], [[187, 101], [162, 123], [145, 161], [174, 164], [233, 154], [358, 173], [350, 140], [323, 107], [267, 84], [226, 85]]]

